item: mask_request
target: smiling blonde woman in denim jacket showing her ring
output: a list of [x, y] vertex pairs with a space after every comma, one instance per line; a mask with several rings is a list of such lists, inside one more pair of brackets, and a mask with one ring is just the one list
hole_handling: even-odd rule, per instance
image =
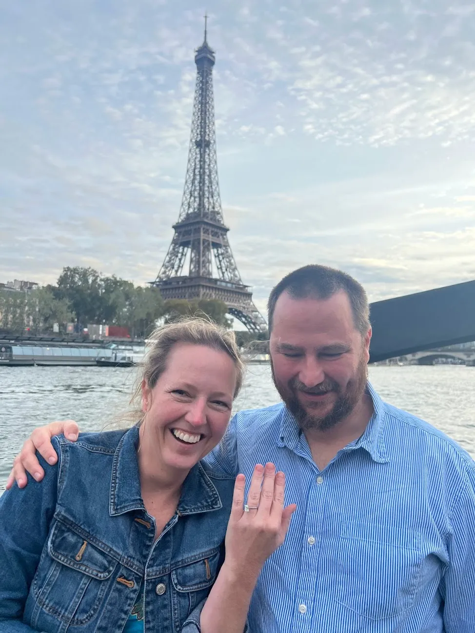
[[44, 479], [0, 499], [4, 633], [243, 632], [295, 506], [284, 508], [273, 464], [256, 466], [244, 512], [244, 475], [234, 482], [200, 461], [242, 380], [232, 332], [172, 323], [151, 337], [129, 430], [53, 438], [58, 460], [42, 461]]

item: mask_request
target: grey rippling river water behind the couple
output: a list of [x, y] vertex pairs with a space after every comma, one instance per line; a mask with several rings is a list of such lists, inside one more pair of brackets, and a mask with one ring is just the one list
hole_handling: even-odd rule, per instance
[[[0, 494], [11, 462], [34, 427], [71, 418], [101, 430], [127, 408], [135, 370], [106, 367], [0, 367]], [[386, 401], [428, 420], [475, 458], [475, 367], [370, 367]], [[269, 365], [250, 365], [235, 409], [279, 400]]]

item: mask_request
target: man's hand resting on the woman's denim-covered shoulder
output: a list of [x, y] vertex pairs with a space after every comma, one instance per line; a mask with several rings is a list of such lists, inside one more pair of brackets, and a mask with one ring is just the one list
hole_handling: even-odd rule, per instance
[[58, 455], [51, 444], [51, 437], [61, 435], [61, 433], [72, 442], [77, 440], [79, 435], [79, 427], [74, 420], [64, 420], [63, 422], [51, 422], [44, 427], [35, 429], [30, 437], [23, 443], [23, 448], [13, 460], [13, 468], [6, 482], [6, 489], [13, 486], [16, 480], [19, 488], [27, 485], [28, 471], [35, 480], [41, 481], [44, 477], [44, 470], [41, 468], [37, 460], [36, 451], [47, 461], [53, 465], [58, 461]]

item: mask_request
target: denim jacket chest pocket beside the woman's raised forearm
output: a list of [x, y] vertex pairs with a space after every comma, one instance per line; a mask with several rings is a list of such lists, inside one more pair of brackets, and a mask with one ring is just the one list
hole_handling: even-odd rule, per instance
[[220, 548], [214, 548], [182, 560], [172, 570], [175, 630], [181, 630], [191, 611], [208, 596], [217, 577], [219, 560]]

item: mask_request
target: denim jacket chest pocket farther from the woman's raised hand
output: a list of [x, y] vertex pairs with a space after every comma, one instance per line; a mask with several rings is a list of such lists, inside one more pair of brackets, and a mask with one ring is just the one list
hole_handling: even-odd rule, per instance
[[[87, 534], [57, 521], [32, 584], [37, 606], [65, 624], [87, 624], [103, 603], [117, 564]], [[39, 624], [37, 620], [35, 626]]]

